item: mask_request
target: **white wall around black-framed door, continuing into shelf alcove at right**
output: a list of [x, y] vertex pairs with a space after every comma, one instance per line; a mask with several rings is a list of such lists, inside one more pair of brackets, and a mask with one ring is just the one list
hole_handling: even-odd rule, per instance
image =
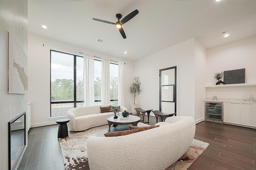
[[159, 109], [159, 70], [177, 66], [177, 115], [204, 119], [202, 98], [256, 97], [256, 87], [207, 88], [214, 85], [214, 72], [246, 68], [246, 83], [256, 83], [256, 36], [205, 49], [196, 39], [189, 39], [135, 62], [142, 94], [138, 106]]

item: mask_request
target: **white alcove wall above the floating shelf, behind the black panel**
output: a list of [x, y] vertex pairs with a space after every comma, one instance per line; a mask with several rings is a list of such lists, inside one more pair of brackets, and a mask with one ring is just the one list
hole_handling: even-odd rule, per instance
[[[256, 35], [207, 49], [207, 84], [217, 80], [214, 72], [245, 68], [246, 83], [256, 82]], [[222, 79], [223, 80], [223, 79]]]

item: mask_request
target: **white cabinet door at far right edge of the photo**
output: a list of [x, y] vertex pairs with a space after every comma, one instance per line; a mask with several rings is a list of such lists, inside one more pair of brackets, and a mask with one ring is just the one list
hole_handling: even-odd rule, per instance
[[256, 104], [241, 103], [241, 124], [256, 127]]

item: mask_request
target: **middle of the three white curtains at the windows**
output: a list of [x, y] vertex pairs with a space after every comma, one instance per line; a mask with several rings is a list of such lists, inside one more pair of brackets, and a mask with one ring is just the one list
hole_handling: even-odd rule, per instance
[[101, 104], [110, 104], [110, 63], [108, 59], [101, 62]]

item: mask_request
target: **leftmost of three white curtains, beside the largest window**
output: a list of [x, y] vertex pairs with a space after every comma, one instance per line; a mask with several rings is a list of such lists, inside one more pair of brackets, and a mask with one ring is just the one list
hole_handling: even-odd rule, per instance
[[94, 57], [84, 54], [84, 106], [94, 104]]

